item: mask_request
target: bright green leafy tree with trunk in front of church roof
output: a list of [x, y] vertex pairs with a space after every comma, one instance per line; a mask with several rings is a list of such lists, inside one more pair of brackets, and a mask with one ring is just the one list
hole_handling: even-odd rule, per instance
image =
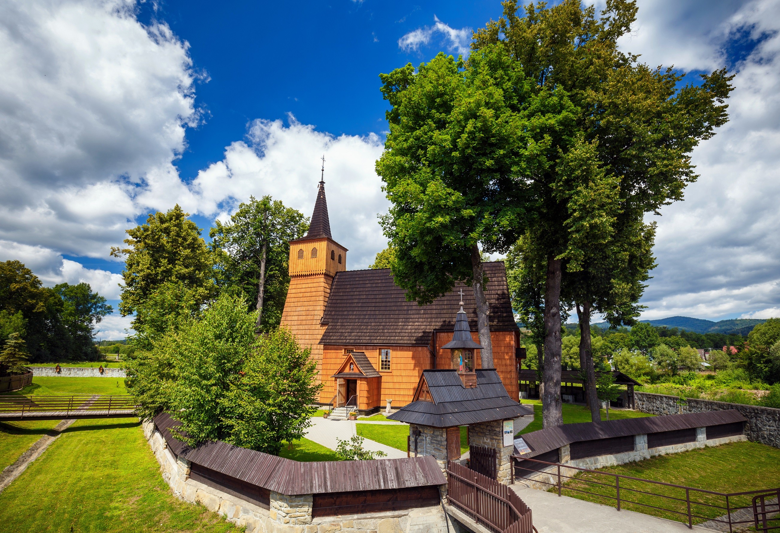
[[495, 251], [513, 242], [501, 229], [517, 226], [526, 206], [509, 183], [544, 150], [539, 130], [555, 127], [540, 113], [561, 103], [551, 94], [531, 109], [531, 84], [500, 48], [473, 54], [467, 65], [439, 54], [417, 73], [408, 64], [380, 77], [390, 133], [376, 169], [392, 203], [381, 220], [395, 250], [395, 282], [420, 304], [456, 282], [472, 286], [482, 362], [491, 367], [480, 244]]

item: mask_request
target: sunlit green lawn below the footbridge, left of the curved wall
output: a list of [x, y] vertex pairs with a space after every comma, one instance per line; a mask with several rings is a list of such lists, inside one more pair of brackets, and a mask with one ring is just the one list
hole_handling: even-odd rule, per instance
[[2, 530], [243, 531], [176, 499], [132, 420], [70, 426], [0, 493]]

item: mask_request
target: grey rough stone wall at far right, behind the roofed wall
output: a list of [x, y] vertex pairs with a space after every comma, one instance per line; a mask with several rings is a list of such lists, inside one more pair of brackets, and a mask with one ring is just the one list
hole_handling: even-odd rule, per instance
[[634, 393], [636, 410], [651, 414], [702, 413], [711, 410], [736, 409], [747, 418], [745, 435], [753, 442], [780, 448], [780, 409], [687, 398], [679, 406], [677, 396], [652, 393]]

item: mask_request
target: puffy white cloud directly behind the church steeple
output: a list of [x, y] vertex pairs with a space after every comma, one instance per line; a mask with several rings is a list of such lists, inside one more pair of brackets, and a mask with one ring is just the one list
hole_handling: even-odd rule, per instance
[[197, 210], [225, 220], [250, 194], [270, 194], [310, 216], [325, 155], [325, 194], [333, 238], [349, 249], [348, 268], [366, 268], [385, 247], [377, 215], [388, 201], [374, 162], [382, 151], [378, 136], [334, 137], [296, 122], [255, 120], [246, 140], [232, 143], [225, 157], [193, 181]]

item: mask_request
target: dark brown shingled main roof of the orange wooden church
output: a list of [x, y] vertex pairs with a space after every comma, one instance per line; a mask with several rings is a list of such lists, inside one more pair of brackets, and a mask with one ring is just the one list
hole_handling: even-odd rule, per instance
[[[483, 268], [489, 280], [484, 292], [490, 306], [491, 331], [516, 331], [504, 263], [484, 263]], [[427, 346], [434, 330], [452, 331], [459, 287], [463, 285], [456, 285], [456, 290], [430, 305], [420, 306], [406, 301], [406, 291], [395, 285], [388, 268], [339, 272], [322, 317], [328, 328], [320, 344]], [[470, 287], [463, 290], [463, 309], [471, 331], [477, 331], [477, 304]]]

